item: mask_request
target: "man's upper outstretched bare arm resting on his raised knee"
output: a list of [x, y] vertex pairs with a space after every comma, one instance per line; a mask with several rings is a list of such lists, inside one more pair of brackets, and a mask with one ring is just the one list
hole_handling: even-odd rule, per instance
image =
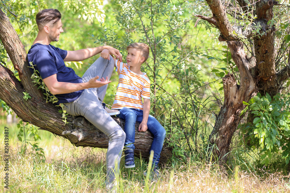
[[64, 58], [64, 61], [82, 61], [101, 53], [104, 49], [108, 49], [110, 54], [114, 55], [116, 58], [119, 58], [119, 60], [122, 61], [122, 54], [119, 52], [119, 50], [107, 45], [94, 48], [79, 49], [75, 51], [68, 51], [68, 54], [66, 55], [66, 58]]

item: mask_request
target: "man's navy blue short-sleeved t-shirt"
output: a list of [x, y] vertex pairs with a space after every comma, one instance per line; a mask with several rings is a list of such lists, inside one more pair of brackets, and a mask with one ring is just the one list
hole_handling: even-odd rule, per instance
[[[68, 52], [66, 50], [52, 45], [36, 43], [29, 49], [27, 57], [28, 62], [32, 61], [32, 64], [36, 65], [35, 69], [39, 71], [42, 79], [56, 74], [58, 82], [81, 83], [81, 77], [77, 76], [73, 69], [66, 67], [64, 64], [64, 58], [66, 58], [67, 54]], [[30, 68], [30, 71], [34, 73], [32, 68]], [[83, 91], [57, 94], [55, 95], [58, 98], [57, 104], [72, 102], [79, 98]]]

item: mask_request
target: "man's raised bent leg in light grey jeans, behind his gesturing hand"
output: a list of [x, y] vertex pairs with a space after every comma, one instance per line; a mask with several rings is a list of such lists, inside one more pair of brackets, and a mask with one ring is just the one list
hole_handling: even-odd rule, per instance
[[[99, 76], [100, 78], [105, 78], [108, 76], [108, 79], [110, 80], [112, 72], [114, 70], [114, 60], [113, 57], [110, 56], [110, 60], [104, 59], [102, 57], [99, 57], [84, 73], [84, 75], [81, 77], [83, 82], [88, 82], [91, 78], [94, 78], [96, 76]], [[102, 104], [106, 91], [108, 88], [108, 84], [99, 87], [99, 88], [91, 88], [91, 90], [97, 92], [99, 101]]]

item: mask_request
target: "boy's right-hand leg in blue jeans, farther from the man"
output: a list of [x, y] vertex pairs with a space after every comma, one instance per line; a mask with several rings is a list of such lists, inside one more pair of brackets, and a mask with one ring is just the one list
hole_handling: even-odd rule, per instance
[[[143, 119], [143, 115], [137, 117], [137, 122], [141, 123], [142, 119]], [[147, 127], [148, 127], [148, 130], [153, 134], [153, 142], [150, 149], [150, 151], [151, 150], [154, 151], [152, 166], [157, 167], [159, 163], [160, 153], [163, 147], [163, 142], [165, 139], [166, 131], [163, 128], [163, 126], [152, 115], [149, 115], [148, 117]]]

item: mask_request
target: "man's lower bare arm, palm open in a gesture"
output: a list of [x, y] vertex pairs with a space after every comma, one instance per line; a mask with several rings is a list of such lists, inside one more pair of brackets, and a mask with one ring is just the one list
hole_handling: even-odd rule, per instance
[[99, 76], [96, 76], [95, 78], [90, 79], [88, 82], [81, 83], [58, 82], [56, 77], [57, 77], [56, 74], [54, 74], [43, 79], [43, 82], [45, 83], [46, 87], [53, 95], [72, 93], [75, 91], [88, 88], [99, 88], [111, 82], [108, 81], [108, 76], [106, 77], [106, 79], [101, 78], [100, 79], [101, 81], [97, 80]]

